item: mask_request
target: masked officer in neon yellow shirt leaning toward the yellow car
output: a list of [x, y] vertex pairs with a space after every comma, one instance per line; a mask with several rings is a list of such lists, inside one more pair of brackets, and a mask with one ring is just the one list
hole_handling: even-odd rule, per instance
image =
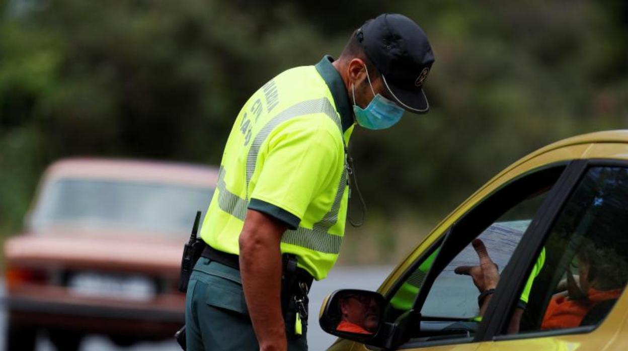
[[349, 137], [355, 124], [385, 129], [404, 111], [427, 112], [433, 62], [416, 23], [382, 14], [338, 60], [280, 73], [244, 104], [188, 284], [188, 350], [307, 349], [306, 294], [335, 263], [345, 230]]

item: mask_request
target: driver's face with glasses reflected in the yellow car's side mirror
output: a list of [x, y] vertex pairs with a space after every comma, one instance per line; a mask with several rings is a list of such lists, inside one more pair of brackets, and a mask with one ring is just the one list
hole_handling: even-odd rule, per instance
[[349, 294], [340, 299], [342, 321], [375, 332], [379, 321], [379, 307], [372, 296]]

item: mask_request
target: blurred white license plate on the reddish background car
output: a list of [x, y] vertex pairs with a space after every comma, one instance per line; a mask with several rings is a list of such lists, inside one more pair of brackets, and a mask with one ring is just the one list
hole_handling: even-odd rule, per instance
[[72, 294], [123, 300], [151, 300], [156, 293], [152, 279], [144, 276], [113, 276], [99, 273], [77, 273], [68, 280]]

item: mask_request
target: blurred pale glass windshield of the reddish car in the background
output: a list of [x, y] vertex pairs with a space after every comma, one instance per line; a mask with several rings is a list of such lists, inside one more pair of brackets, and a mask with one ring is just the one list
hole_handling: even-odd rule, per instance
[[61, 179], [41, 193], [31, 224], [189, 233], [214, 188], [131, 181]]

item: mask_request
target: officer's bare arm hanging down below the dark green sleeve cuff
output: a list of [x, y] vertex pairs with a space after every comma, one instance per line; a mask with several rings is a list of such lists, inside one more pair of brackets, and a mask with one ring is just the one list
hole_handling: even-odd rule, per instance
[[248, 210], [240, 234], [240, 271], [246, 305], [261, 351], [286, 350], [281, 315], [281, 235], [286, 225]]

